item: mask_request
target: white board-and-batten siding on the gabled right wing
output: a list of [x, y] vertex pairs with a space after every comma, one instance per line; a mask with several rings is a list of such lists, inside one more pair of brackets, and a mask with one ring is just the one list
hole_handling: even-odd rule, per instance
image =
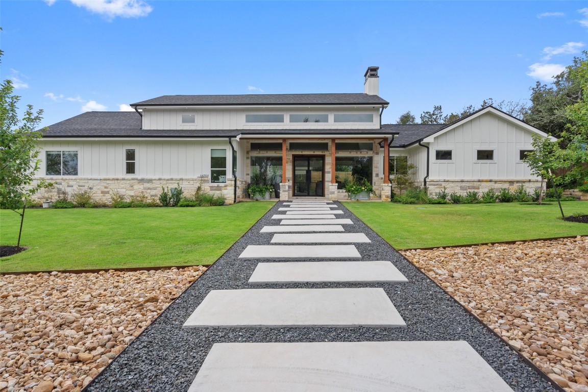
[[[532, 133], [514, 122], [485, 113], [430, 143], [430, 179], [535, 179], [519, 157], [532, 150]], [[422, 148], [421, 148], [422, 149]], [[424, 149], [423, 149], [424, 150]], [[452, 150], [452, 160], [436, 160], [435, 150]], [[477, 160], [477, 150], [493, 150], [493, 160]]]

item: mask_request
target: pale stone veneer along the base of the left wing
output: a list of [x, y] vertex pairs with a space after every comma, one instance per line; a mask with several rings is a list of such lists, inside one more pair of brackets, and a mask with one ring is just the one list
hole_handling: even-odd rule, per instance
[[[92, 199], [95, 202], [110, 203], [112, 193], [120, 193], [129, 200], [132, 196], [159, 198], [161, 187], [177, 187], [178, 183], [183, 189], [183, 195], [193, 197], [198, 186], [203, 192], [212, 193], [215, 196], [225, 196], [225, 204], [233, 203], [234, 180], [229, 179], [227, 183], [209, 183], [208, 179], [199, 178], [88, 178], [88, 177], [45, 177], [47, 182], [55, 183], [52, 190], [41, 190], [34, 196], [34, 200], [40, 202], [46, 199], [55, 200], [65, 193], [71, 199], [72, 193], [89, 190], [93, 193]], [[32, 183], [35, 186], [38, 180]], [[237, 201], [243, 199], [243, 188], [245, 182], [237, 179]]]

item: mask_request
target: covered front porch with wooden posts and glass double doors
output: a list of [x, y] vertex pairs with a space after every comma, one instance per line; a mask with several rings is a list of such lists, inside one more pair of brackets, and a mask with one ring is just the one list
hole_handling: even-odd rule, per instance
[[350, 135], [336, 138], [251, 137], [242, 135], [245, 182], [270, 170], [279, 199], [346, 200], [345, 186], [355, 177], [368, 180], [371, 200], [390, 200], [389, 143], [394, 135]]

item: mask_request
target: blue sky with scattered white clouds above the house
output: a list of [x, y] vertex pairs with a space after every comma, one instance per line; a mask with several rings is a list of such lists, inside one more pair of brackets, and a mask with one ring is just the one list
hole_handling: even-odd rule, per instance
[[1, 78], [42, 125], [160, 95], [363, 92], [371, 65], [396, 122], [528, 99], [588, 49], [578, 1], [2, 0], [0, 26]]

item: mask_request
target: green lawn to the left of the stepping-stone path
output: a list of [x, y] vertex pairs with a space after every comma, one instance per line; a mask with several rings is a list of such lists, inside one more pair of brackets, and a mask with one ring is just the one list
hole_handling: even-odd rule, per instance
[[[273, 202], [222, 207], [29, 209], [21, 246], [0, 272], [212, 264]], [[16, 245], [20, 216], [0, 210], [0, 243]]]

